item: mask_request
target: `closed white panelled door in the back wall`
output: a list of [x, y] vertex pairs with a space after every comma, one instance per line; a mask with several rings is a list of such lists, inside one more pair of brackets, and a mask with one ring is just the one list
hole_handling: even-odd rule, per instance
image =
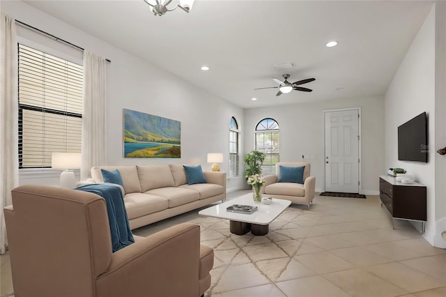
[[359, 111], [325, 112], [325, 192], [359, 192]]

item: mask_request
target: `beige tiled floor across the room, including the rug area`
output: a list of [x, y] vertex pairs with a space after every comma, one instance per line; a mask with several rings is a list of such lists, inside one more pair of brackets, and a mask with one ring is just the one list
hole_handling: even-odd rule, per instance
[[[245, 192], [230, 193], [228, 199]], [[228, 234], [226, 222], [206, 221], [197, 211], [134, 234], [148, 236], [179, 222], [202, 224], [201, 240], [215, 250], [206, 297], [446, 297], [446, 250], [433, 248], [406, 221], [392, 229], [379, 197], [317, 196], [309, 211], [307, 206], [291, 208], [270, 225], [267, 236]], [[241, 248], [234, 252], [216, 234]], [[8, 253], [0, 259], [3, 297], [12, 292], [12, 282]]]

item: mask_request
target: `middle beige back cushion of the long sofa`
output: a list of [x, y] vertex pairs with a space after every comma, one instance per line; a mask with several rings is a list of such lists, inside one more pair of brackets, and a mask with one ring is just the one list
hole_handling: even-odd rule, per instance
[[137, 172], [142, 192], [175, 185], [169, 165], [137, 165]]

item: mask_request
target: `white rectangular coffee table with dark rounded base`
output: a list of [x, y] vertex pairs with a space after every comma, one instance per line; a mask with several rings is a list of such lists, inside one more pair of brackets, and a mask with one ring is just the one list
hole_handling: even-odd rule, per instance
[[[243, 204], [257, 206], [254, 213], [231, 213], [226, 211], [226, 207], [233, 204]], [[233, 234], [243, 235], [251, 231], [253, 235], [266, 235], [269, 231], [269, 224], [275, 220], [289, 205], [291, 201], [283, 199], [272, 199], [271, 204], [254, 202], [252, 194], [231, 199], [222, 204], [217, 204], [199, 211], [199, 215], [212, 218], [228, 219], [230, 231]]]

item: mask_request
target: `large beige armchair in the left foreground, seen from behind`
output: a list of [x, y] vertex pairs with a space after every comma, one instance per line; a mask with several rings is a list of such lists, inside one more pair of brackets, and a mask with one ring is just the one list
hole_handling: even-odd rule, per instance
[[112, 253], [105, 201], [77, 190], [23, 185], [4, 208], [15, 296], [203, 295], [213, 250], [183, 223]]

